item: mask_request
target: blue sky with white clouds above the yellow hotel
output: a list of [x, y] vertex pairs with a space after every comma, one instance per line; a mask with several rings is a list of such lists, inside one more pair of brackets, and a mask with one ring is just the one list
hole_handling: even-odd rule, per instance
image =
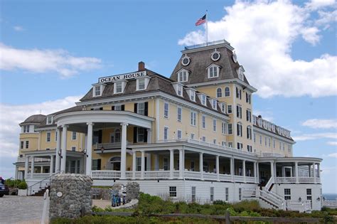
[[291, 130], [294, 156], [322, 157], [323, 192], [337, 193], [336, 1], [0, 3], [0, 175], [14, 175], [19, 122], [140, 60], [171, 75], [183, 46], [205, 40], [194, 23], [208, 9], [209, 40], [229, 41], [259, 90], [255, 114]]

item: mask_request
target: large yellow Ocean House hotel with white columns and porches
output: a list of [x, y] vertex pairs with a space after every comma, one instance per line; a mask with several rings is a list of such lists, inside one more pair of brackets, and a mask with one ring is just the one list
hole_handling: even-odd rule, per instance
[[61, 172], [97, 186], [137, 181], [175, 201], [320, 210], [322, 160], [294, 157], [289, 130], [253, 115], [257, 90], [233, 50], [227, 41], [186, 47], [170, 78], [140, 62], [98, 78], [75, 107], [28, 117], [17, 178], [32, 194]]

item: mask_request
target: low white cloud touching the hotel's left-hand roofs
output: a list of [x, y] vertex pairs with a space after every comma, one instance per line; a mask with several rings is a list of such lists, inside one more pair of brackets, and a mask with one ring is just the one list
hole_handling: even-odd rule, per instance
[[[1, 157], [18, 156], [19, 123], [27, 117], [40, 113], [51, 114], [75, 106], [80, 96], [65, 97], [60, 100], [46, 101], [31, 105], [0, 104], [0, 154]], [[11, 119], [9, 119], [9, 117]]]

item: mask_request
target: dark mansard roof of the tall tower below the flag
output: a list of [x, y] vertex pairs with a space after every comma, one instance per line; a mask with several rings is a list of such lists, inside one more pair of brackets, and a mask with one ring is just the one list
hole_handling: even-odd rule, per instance
[[[235, 78], [239, 79], [237, 69], [240, 68], [240, 64], [238, 62], [235, 63], [234, 60], [232, 60], [233, 52], [231, 49], [228, 47], [228, 43], [225, 42], [211, 46], [183, 50], [181, 51], [181, 58], [178, 60], [176, 68], [174, 68], [173, 73], [171, 74], [171, 79], [175, 81], [178, 80], [177, 72], [178, 70], [181, 70], [181, 68], [191, 71], [188, 76], [188, 81], [184, 82], [186, 85], [218, 80], [232, 80]], [[211, 55], [215, 50], [220, 53], [220, 59], [216, 61], [211, 58]], [[181, 60], [185, 56], [189, 57], [191, 60], [186, 66], [181, 64]], [[206, 68], [212, 64], [220, 66], [220, 74], [218, 78], [208, 78]], [[250, 85], [245, 75], [243, 82]]]

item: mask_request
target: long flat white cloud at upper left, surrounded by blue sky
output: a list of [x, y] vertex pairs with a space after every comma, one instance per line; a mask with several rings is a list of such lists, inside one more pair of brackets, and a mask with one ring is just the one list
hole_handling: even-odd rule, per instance
[[65, 50], [18, 49], [0, 43], [0, 69], [27, 70], [32, 73], [58, 73], [66, 78], [80, 71], [99, 68], [98, 58], [77, 58]]

